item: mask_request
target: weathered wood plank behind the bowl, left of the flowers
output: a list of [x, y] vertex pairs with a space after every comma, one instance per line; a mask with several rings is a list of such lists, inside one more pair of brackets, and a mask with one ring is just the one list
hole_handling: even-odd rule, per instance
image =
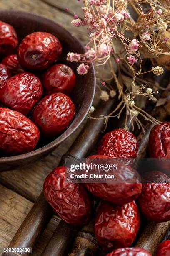
[[[56, 2], [63, 2], [62, 5], [65, 5], [66, 0], [63, 1], [56, 1]], [[69, 1], [68, 1], [69, 2]], [[74, 1], [70, 1], [74, 2]], [[70, 22], [72, 20], [72, 17], [69, 13], [66, 11], [63, 12], [62, 10], [59, 10], [57, 8], [53, 8], [52, 6], [48, 5], [45, 2], [42, 2], [40, 0], [0, 0], [0, 9], [14, 9], [14, 10], [22, 10], [22, 11], [28, 11], [30, 13], [34, 13], [37, 15], [42, 15], [47, 18], [50, 18], [54, 20], [55, 22], [59, 23], [63, 27], [65, 27], [72, 35], [79, 38], [84, 43], [87, 42], [88, 39], [88, 33], [86, 28], [80, 27], [75, 28], [74, 26], [71, 26]], [[77, 8], [78, 9], [78, 8]]]

